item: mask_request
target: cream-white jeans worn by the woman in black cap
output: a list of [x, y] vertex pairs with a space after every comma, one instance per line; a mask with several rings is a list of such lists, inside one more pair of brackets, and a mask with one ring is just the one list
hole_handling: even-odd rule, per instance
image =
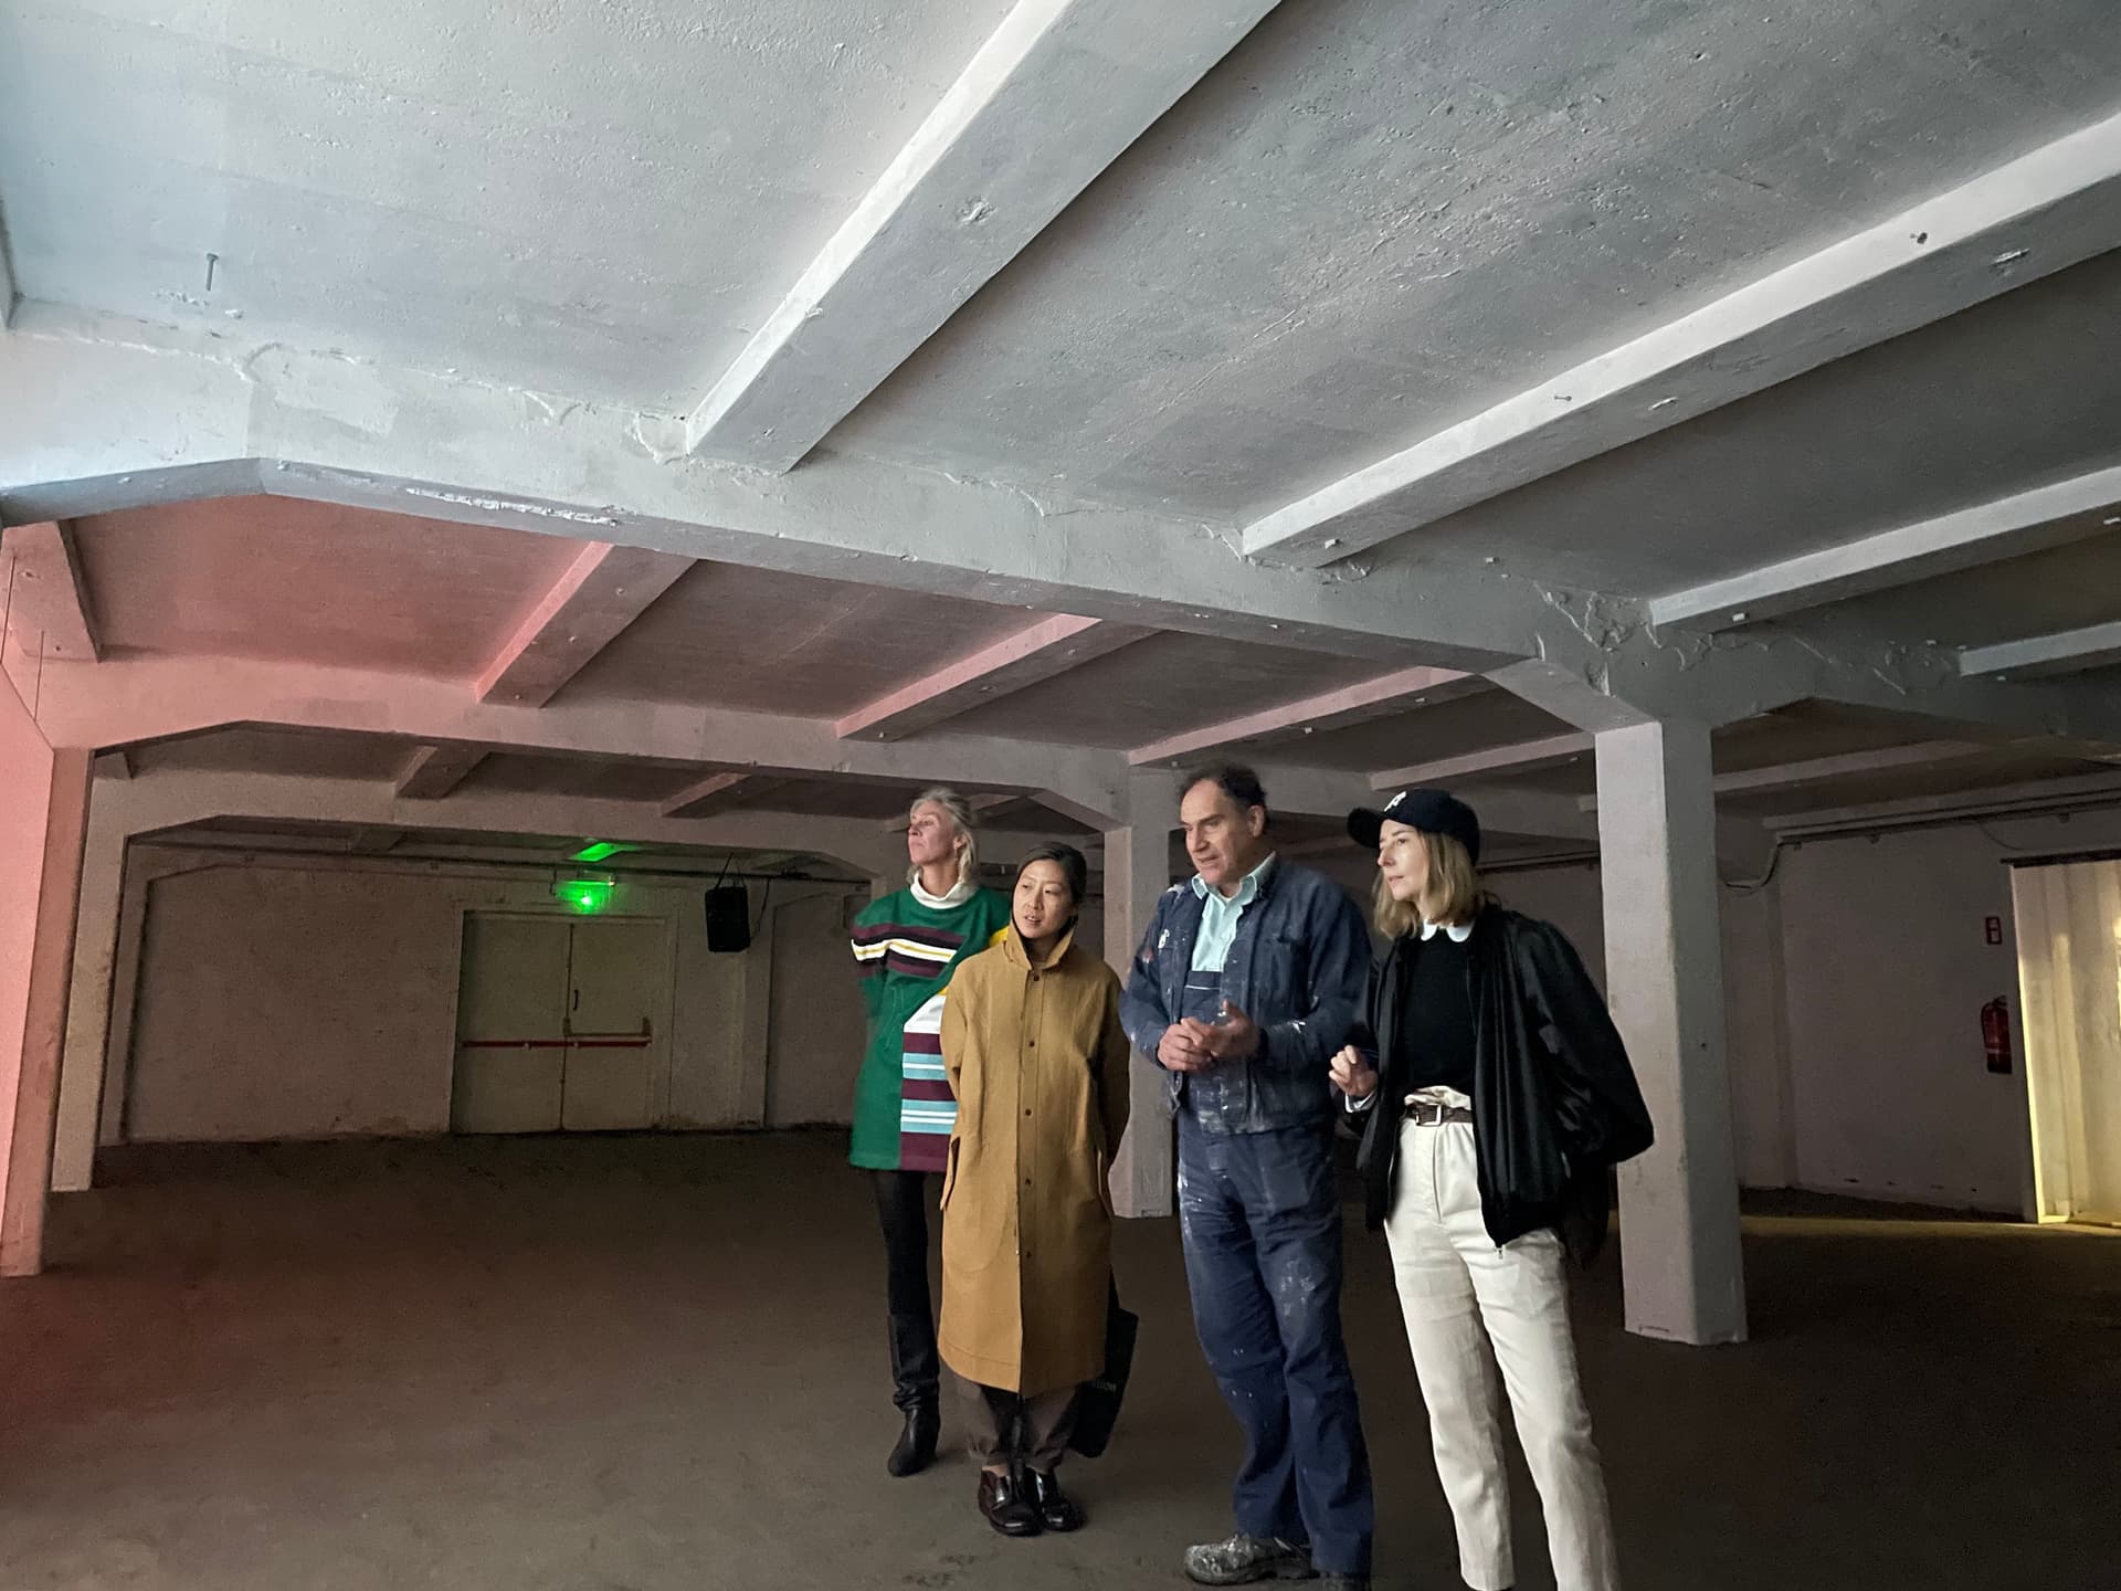
[[[1468, 1103], [1463, 1095], [1447, 1097]], [[1495, 1247], [1480, 1224], [1474, 1137], [1463, 1122], [1400, 1129], [1398, 1192], [1385, 1239], [1466, 1585], [1506, 1591], [1517, 1580], [1495, 1396], [1500, 1364], [1546, 1513], [1555, 1587], [1612, 1591], [1618, 1570], [1606, 1479], [1576, 1379], [1561, 1239], [1542, 1230]]]

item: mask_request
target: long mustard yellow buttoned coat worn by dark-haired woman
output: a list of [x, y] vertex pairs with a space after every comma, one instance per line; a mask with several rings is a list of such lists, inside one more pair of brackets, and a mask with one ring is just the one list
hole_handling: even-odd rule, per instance
[[957, 1129], [942, 1184], [944, 1364], [1027, 1398], [1105, 1366], [1111, 1154], [1130, 1050], [1120, 980], [1065, 936], [959, 963], [942, 1008]]

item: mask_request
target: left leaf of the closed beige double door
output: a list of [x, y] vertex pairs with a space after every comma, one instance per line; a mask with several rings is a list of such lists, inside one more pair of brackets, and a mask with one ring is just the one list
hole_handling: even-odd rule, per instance
[[545, 916], [464, 919], [452, 1131], [560, 1129], [571, 929]]

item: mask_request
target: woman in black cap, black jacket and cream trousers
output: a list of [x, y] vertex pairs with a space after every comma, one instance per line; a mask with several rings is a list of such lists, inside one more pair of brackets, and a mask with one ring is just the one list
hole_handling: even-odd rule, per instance
[[1385, 1228], [1436, 1474], [1472, 1591], [1508, 1591], [1495, 1370], [1546, 1513], [1557, 1591], [1618, 1585], [1606, 1481], [1576, 1377], [1565, 1254], [1606, 1235], [1606, 1171], [1650, 1116], [1606, 1001], [1550, 923], [1480, 887], [1480, 821], [1438, 789], [1357, 810], [1377, 851], [1368, 1031], [1332, 1061], [1366, 1112], [1360, 1167]]

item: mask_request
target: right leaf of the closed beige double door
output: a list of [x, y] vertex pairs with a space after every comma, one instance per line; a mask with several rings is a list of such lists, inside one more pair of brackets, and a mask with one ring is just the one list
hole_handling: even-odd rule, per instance
[[662, 923], [573, 923], [566, 993], [566, 1086], [560, 1124], [573, 1133], [651, 1126], [662, 1080]]

